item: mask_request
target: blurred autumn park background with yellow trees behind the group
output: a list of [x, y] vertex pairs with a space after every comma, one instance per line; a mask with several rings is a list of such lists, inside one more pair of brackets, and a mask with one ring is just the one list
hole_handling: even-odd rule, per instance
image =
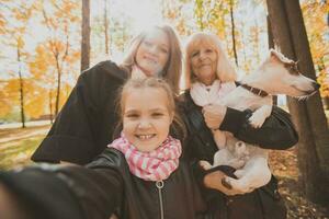
[[[299, 10], [302, 20], [293, 20]], [[288, 218], [329, 218], [328, 198], [319, 197], [329, 197], [328, 0], [0, 0], [0, 170], [32, 163], [81, 70], [120, 61], [132, 37], [158, 23], [174, 26], [182, 45], [198, 31], [218, 35], [240, 76], [275, 47], [317, 79], [320, 91], [306, 103], [275, 99], [293, 115], [300, 141], [273, 151], [271, 169]], [[297, 43], [283, 39], [285, 30]]]

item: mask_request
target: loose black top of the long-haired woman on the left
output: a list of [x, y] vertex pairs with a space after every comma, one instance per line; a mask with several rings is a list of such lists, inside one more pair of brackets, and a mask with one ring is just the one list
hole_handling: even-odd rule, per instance
[[91, 162], [112, 141], [116, 96], [128, 78], [112, 61], [82, 72], [47, 137], [32, 155], [35, 162]]

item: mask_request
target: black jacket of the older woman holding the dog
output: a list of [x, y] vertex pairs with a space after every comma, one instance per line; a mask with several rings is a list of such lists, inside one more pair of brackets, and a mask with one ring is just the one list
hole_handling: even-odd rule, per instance
[[[205, 172], [197, 165], [197, 161], [206, 160], [213, 163], [213, 157], [218, 150], [212, 131], [207, 128], [202, 115], [202, 107], [194, 104], [190, 92], [180, 96], [180, 111], [188, 127], [188, 138], [184, 141], [184, 157], [194, 161], [195, 175], [203, 181]], [[240, 140], [257, 143], [264, 149], [284, 150], [298, 141], [298, 135], [291, 122], [291, 116], [283, 110], [273, 106], [272, 114], [261, 128], [252, 128], [248, 124], [250, 111], [228, 108], [219, 127], [230, 131]], [[218, 166], [208, 172], [220, 170], [235, 177], [230, 166]], [[272, 176], [271, 182], [252, 193], [226, 196], [217, 191], [203, 189], [208, 210], [219, 219], [284, 219], [286, 208], [277, 192], [277, 181]]]

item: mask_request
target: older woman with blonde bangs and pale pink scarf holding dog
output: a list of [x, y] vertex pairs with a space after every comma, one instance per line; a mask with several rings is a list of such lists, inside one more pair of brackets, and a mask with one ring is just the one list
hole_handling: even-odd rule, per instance
[[[205, 100], [200, 100], [197, 92], [209, 91], [209, 103], [216, 95], [225, 95], [235, 88], [235, 68], [220, 46], [219, 39], [212, 34], [197, 33], [190, 37], [185, 48], [186, 84], [192, 88], [183, 95], [183, 115], [188, 124], [189, 135], [185, 141], [185, 157], [198, 161], [213, 162], [214, 153], [218, 150], [211, 129], [230, 131], [240, 140], [259, 145], [266, 149], [287, 149], [294, 146], [298, 136], [290, 119], [290, 115], [279, 107], [273, 107], [272, 115], [259, 129], [248, 124], [250, 111], [236, 111], [219, 105], [203, 106]], [[285, 218], [285, 207], [277, 193], [276, 180], [249, 194], [227, 189], [218, 184], [225, 174], [232, 176], [229, 166], [218, 166], [203, 180], [207, 187], [223, 192], [215, 194], [206, 191], [209, 208], [217, 211], [218, 218]], [[240, 195], [237, 195], [240, 194]], [[242, 194], [242, 195], [241, 195]]]

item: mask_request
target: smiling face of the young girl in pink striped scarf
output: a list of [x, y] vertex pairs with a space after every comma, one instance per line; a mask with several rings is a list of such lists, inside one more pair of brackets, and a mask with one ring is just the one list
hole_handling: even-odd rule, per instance
[[168, 137], [173, 112], [161, 88], [129, 90], [123, 97], [123, 132], [139, 151], [157, 149]]

